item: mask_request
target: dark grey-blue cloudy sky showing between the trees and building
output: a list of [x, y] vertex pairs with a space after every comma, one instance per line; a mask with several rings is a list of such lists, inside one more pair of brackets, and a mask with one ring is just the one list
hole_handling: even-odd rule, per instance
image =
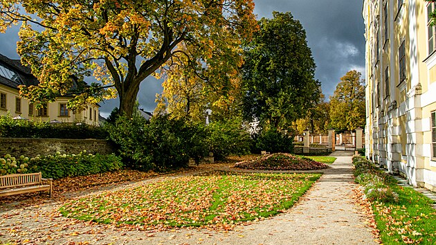
[[[273, 11], [291, 12], [301, 21], [307, 33], [307, 42], [316, 62], [316, 79], [328, 98], [347, 71], [365, 71], [365, 26], [361, 0], [254, 0], [257, 18], [271, 18]], [[18, 28], [0, 34], [0, 53], [18, 59], [16, 42]], [[161, 82], [147, 78], [138, 94], [140, 107], [153, 111], [156, 93], [161, 93]], [[108, 116], [118, 100], [100, 103], [102, 116]]]

